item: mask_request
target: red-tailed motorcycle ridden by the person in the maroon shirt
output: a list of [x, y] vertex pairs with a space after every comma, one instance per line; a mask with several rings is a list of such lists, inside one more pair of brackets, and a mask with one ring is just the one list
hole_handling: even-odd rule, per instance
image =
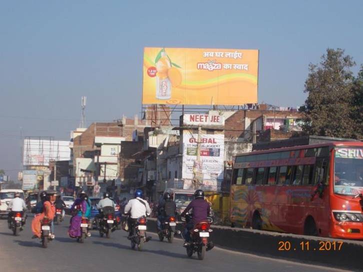
[[[186, 221], [191, 220], [191, 214], [187, 215]], [[212, 241], [208, 241], [209, 233], [213, 231], [210, 228], [212, 218], [207, 217], [207, 220], [198, 222], [190, 230], [191, 241], [186, 246], [186, 255], [191, 257], [194, 252], [197, 253], [198, 259], [202, 260], [205, 255], [205, 251], [209, 251], [214, 247]]]

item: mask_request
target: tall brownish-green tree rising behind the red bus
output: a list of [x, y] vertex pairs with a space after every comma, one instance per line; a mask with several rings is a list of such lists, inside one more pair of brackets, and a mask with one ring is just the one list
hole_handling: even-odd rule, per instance
[[309, 64], [304, 92], [303, 130], [312, 135], [353, 136], [351, 98], [355, 62], [343, 49], [326, 49], [319, 64]]

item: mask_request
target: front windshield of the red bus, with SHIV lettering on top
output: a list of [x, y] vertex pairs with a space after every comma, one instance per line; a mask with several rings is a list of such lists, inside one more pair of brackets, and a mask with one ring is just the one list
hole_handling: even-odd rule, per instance
[[334, 192], [344, 195], [363, 192], [363, 148], [336, 148]]

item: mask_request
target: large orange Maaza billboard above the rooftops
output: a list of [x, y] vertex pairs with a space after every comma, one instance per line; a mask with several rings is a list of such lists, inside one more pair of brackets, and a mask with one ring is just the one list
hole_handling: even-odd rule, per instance
[[145, 47], [143, 104], [257, 102], [258, 50]]

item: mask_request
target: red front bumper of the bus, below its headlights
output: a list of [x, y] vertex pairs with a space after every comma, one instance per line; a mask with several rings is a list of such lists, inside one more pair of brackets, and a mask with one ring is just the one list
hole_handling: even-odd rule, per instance
[[363, 239], [363, 222], [333, 221], [330, 236], [334, 238]]

